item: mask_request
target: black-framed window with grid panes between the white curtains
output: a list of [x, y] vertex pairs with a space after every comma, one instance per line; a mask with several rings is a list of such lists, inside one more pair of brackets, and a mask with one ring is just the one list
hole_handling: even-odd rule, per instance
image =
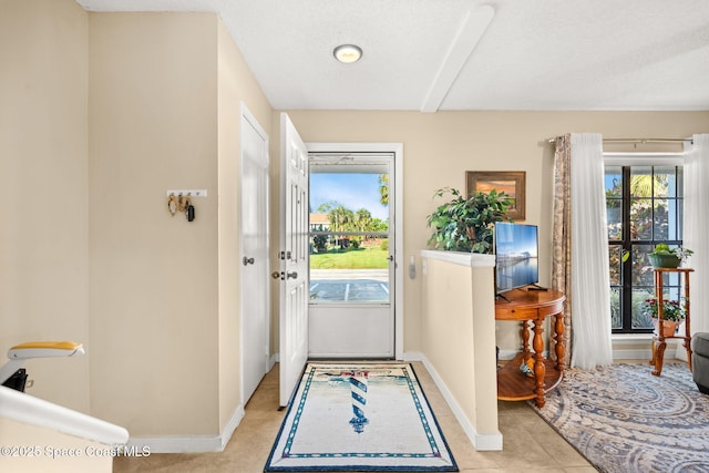
[[[682, 167], [606, 163], [605, 186], [613, 332], [651, 332], [643, 309], [655, 294], [647, 254], [659, 243], [682, 243]], [[665, 278], [666, 296], [679, 298], [678, 275]]]

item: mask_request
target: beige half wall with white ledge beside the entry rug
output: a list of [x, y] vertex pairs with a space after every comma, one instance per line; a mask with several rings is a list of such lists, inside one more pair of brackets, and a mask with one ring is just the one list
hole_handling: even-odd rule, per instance
[[422, 250], [422, 348], [476, 450], [502, 450], [493, 255]]

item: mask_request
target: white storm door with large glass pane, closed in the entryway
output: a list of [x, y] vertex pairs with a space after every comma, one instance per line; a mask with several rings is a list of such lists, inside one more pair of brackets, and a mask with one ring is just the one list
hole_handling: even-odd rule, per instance
[[394, 358], [394, 153], [310, 153], [310, 358]]

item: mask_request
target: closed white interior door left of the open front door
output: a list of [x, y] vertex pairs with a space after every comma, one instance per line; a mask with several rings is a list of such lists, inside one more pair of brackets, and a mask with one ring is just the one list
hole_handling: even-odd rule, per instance
[[242, 104], [242, 402], [268, 372], [270, 268], [268, 237], [268, 136]]

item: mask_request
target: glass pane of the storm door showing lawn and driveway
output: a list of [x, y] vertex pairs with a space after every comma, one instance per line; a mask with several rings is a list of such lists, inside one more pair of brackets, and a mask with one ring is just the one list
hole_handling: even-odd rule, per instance
[[310, 304], [389, 304], [386, 166], [310, 166]]

